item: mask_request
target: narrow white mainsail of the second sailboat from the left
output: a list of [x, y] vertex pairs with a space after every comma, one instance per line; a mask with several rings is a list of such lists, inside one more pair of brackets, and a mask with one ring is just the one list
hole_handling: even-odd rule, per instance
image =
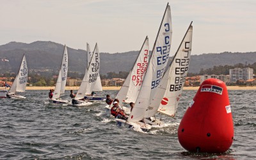
[[62, 63], [61, 63], [61, 90], [60, 93], [65, 93], [65, 86], [68, 76], [68, 51], [67, 46], [64, 47]]

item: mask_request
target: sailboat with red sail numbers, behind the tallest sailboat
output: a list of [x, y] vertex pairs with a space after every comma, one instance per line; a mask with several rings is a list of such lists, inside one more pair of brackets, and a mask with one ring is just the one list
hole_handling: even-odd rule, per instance
[[[131, 108], [126, 108], [124, 104], [135, 102], [138, 97], [141, 84], [144, 79], [144, 74], [148, 67], [149, 58], [150, 53], [148, 37], [146, 37], [131, 71], [129, 72], [123, 86], [120, 88], [115, 97], [115, 99], [118, 99], [120, 102], [122, 102], [119, 105], [122, 109], [124, 109], [125, 113], [131, 113]], [[106, 108], [110, 109], [111, 106], [112, 105], [108, 105]]]

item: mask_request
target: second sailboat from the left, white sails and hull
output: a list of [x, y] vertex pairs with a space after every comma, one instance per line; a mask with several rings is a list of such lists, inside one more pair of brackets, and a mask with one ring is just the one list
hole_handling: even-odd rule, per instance
[[63, 56], [62, 56], [61, 68], [58, 74], [55, 90], [53, 92], [52, 99], [49, 99], [50, 103], [63, 104], [68, 102], [68, 100], [60, 99], [61, 94], [65, 93], [67, 74], [68, 74], [68, 51], [67, 51], [67, 46], [65, 45]]

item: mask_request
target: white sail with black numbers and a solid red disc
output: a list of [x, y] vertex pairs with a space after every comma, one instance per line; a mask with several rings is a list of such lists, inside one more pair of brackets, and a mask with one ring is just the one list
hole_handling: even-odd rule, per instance
[[[191, 22], [192, 23], [192, 22]], [[183, 86], [188, 74], [193, 26], [189, 26], [172, 64], [164, 74], [152, 105], [159, 105], [159, 113], [175, 116]]]

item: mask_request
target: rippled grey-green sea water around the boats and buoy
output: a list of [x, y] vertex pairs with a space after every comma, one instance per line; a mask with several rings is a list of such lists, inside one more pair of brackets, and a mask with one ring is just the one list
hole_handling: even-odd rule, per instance
[[104, 103], [52, 105], [47, 90], [28, 90], [26, 100], [0, 99], [0, 159], [256, 159], [255, 90], [229, 91], [235, 139], [226, 154], [194, 154], [180, 146], [177, 129], [195, 93], [185, 90], [177, 118], [161, 116], [168, 127], [147, 134], [116, 127]]

